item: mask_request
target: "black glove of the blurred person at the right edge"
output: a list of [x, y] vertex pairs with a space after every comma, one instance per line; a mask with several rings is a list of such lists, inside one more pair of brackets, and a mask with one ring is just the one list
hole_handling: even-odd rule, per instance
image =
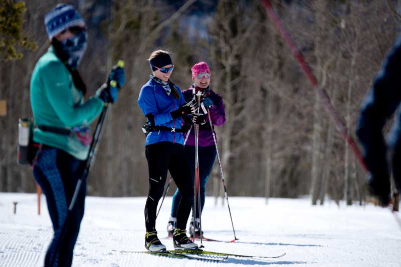
[[369, 192], [377, 197], [381, 206], [388, 205], [390, 201], [390, 177], [388, 174], [370, 173], [366, 179], [366, 185]]

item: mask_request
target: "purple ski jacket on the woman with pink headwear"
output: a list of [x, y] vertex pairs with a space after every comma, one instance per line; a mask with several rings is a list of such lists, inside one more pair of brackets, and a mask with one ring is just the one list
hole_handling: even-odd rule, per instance
[[[182, 91], [184, 95], [185, 101], [192, 99], [194, 93], [193, 85], [186, 90]], [[226, 112], [224, 110], [223, 98], [219, 93], [214, 92], [212, 89], [210, 90], [210, 94], [208, 95], [210, 99], [213, 101], [213, 105], [209, 107], [209, 112], [212, 117], [212, 124], [216, 126], [223, 125], [226, 122]], [[205, 113], [202, 108], [200, 108], [200, 113]], [[212, 130], [210, 128], [209, 115], [206, 114], [207, 122], [203, 125], [199, 125], [199, 137], [198, 137], [198, 146], [210, 146], [215, 145], [215, 141], [213, 140]], [[213, 130], [215, 132], [215, 130]], [[216, 135], [216, 132], [215, 132]], [[184, 140], [186, 138], [186, 133], [184, 134]], [[217, 138], [217, 137], [216, 137]], [[195, 145], [195, 132], [194, 127], [191, 128], [189, 133], [188, 140], [185, 145]]]

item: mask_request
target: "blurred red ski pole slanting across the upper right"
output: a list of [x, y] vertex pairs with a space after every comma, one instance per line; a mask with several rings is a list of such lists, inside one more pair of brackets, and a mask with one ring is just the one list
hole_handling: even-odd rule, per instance
[[366, 171], [368, 171], [366, 163], [363, 160], [363, 157], [362, 157], [362, 154], [361, 154], [359, 148], [356, 146], [356, 143], [353, 140], [353, 138], [348, 134], [348, 130], [345, 127], [344, 122], [341, 120], [338, 113], [334, 109], [333, 105], [331, 104], [331, 101], [330, 101], [330, 98], [329, 98], [327, 92], [318, 84], [317, 78], [315, 77], [315, 75], [313, 75], [311, 69], [307, 65], [302, 54], [295, 47], [295, 44], [292, 41], [290, 35], [286, 31], [284, 25], [281, 23], [279, 16], [274, 12], [270, 1], [269, 0], [262, 0], [262, 1], [265, 4], [265, 7], [267, 10], [267, 13], [269, 14], [270, 19], [273, 21], [274, 25], [276, 26], [277, 30], [280, 32], [283, 39], [286, 41], [286, 43], [289, 46], [289, 48], [291, 49], [295, 59], [300, 64], [302, 70], [308, 77], [309, 81], [312, 83], [314, 89], [316, 90], [316, 92], [319, 96], [321, 104], [326, 109], [326, 111], [329, 113], [329, 115], [331, 115], [331, 118], [333, 119], [338, 131], [340, 131], [343, 134], [344, 139], [348, 142], [349, 146], [352, 148], [352, 151], [354, 152], [356, 159], [359, 161], [361, 166]]

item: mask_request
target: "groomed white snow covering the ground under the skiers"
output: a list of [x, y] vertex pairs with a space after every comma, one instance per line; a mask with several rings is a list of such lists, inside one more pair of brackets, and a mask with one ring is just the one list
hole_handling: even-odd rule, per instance
[[[399, 214], [388, 209], [309, 199], [230, 197], [235, 243], [204, 241], [206, 250], [252, 255], [287, 254], [278, 259], [229, 257], [224, 262], [173, 259], [124, 250], [144, 250], [144, 197], [87, 197], [85, 217], [74, 250], [73, 266], [401, 266]], [[14, 214], [13, 201], [18, 201]], [[166, 235], [171, 198], [156, 222]], [[37, 215], [35, 194], [0, 193], [0, 266], [43, 266], [52, 237], [45, 197]], [[227, 206], [207, 198], [202, 216], [205, 236], [231, 240]], [[167, 248], [171, 240], [162, 239]]]

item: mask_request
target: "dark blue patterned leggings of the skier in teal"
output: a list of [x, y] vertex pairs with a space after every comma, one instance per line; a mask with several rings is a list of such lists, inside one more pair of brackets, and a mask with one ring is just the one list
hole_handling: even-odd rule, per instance
[[[66, 222], [66, 218], [68, 206], [84, 166], [84, 161], [61, 149], [42, 148], [38, 154], [34, 176], [46, 195], [54, 229], [53, 239], [46, 252], [46, 267], [72, 264], [74, 245], [84, 215], [86, 183], [81, 184], [69, 221]], [[64, 226], [66, 228], [61, 238]]]

